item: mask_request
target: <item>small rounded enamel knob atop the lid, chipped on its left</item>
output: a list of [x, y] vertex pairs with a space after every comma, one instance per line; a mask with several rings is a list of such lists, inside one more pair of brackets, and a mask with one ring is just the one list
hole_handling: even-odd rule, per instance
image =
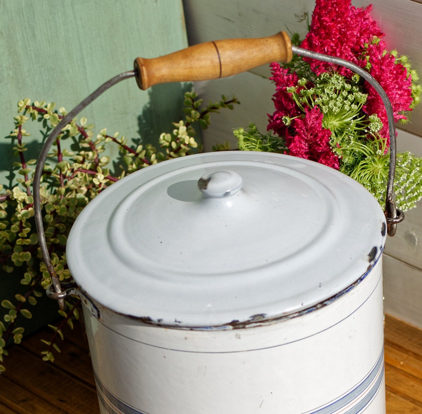
[[242, 184], [242, 177], [234, 171], [214, 171], [204, 174], [198, 180], [198, 188], [210, 198], [234, 195], [242, 188]]

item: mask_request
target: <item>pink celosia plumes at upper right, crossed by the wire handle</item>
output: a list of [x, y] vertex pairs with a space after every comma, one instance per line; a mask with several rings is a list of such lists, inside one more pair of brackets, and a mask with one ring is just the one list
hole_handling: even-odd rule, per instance
[[[316, 0], [312, 14], [311, 27], [301, 47], [316, 52], [341, 57], [362, 68], [370, 64], [369, 73], [379, 82], [392, 103], [395, 121], [407, 119], [403, 111], [411, 111], [411, 77], [406, 68], [395, 57], [385, 50], [384, 36], [376, 22], [373, 21], [367, 8], [355, 8], [351, 0]], [[373, 42], [377, 39], [378, 43]], [[365, 58], [368, 57], [368, 60]], [[306, 59], [311, 70], [317, 75], [334, 70], [352, 76], [352, 71], [328, 62]], [[379, 131], [381, 138], [390, 146], [387, 113], [381, 97], [373, 87], [365, 82], [365, 93], [368, 102], [363, 110], [368, 114], [377, 114], [383, 123]]]

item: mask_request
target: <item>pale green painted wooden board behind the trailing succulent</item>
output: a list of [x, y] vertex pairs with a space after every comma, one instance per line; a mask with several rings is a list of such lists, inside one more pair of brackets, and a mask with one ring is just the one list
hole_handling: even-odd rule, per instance
[[[0, 0], [0, 184], [11, 184], [13, 151], [3, 137], [14, 128], [18, 100], [56, 102], [70, 111], [109, 78], [132, 70], [136, 57], [157, 57], [186, 46], [181, 0]], [[154, 141], [181, 119], [182, 89], [187, 87], [165, 84], [144, 92], [129, 79], [80, 116], [96, 124], [95, 132], [106, 127], [126, 138]], [[27, 122], [25, 127], [32, 133], [27, 159], [36, 158], [39, 125]], [[110, 155], [116, 156], [117, 148]], [[13, 299], [21, 277], [0, 274], [0, 300]], [[39, 307], [27, 325], [35, 329], [51, 320], [46, 308], [57, 305], [51, 301]]]

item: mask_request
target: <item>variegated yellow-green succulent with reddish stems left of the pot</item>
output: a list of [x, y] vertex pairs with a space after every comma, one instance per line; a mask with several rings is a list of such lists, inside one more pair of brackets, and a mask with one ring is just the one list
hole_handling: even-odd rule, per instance
[[[74, 118], [66, 125], [49, 154], [41, 177], [41, 208], [44, 221], [47, 246], [54, 269], [60, 281], [71, 281], [66, 262], [65, 245], [70, 227], [78, 214], [103, 189], [118, 181], [128, 173], [156, 164], [162, 160], [186, 156], [201, 151], [201, 145], [195, 140], [195, 125], [205, 129], [210, 124], [212, 113], [222, 108], [233, 109], [238, 100], [233, 97], [209, 103], [202, 107], [203, 100], [197, 99], [195, 92], [184, 94], [185, 118], [173, 123], [170, 133], [162, 133], [159, 144], [162, 151], [151, 144], [135, 146], [118, 132], [109, 135], [106, 128], [94, 133], [94, 125], [87, 119]], [[51, 284], [46, 265], [38, 247], [38, 235], [34, 222], [34, 200], [32, 197], [32, 168], [37, 160], [26, 160], [27, 146], [25, 138], [30, 134], [24, 125], [30, 119], [40, 122], [41, 133], [46, 136], [60, 119], [65, 116], [65, 108], [55, 109], [54, 103], [46, 101], [32, 102], [26, 98], [18, 102], [19, 115], [14, 118], [14, 131], [6, 138], [11, 139], [13, 149], [19, 161], [13, 163], [13, 170], [19, 176], [17, 185], [12, 188], [0, 185], [0, 269], [2, 273], [16, 273], [24, 288], [13, 298], [5, 298], [1, 306], [7, 314], [0, 321], [0, 363], [8, 352], [6, 343], [13, 339], [15, 344], [22, 341], [24, 327], [18, 326], [21, 318], [31, 318], [31, 306], [37, 304], [37, 298], [43, 295], [43, 288]], [[62, 141], [73, 141], [73, 151], [62, 149]], [[110, 157], [104, 155], [108, 145], [119, 147], [118, 168], [111, 168]], [[57, 326], [51, 326], [51, 338], [43, 340], [47, 349], [43, 359], [54, 361], [53, 352], [60, 352], [58, 338], [63, 339], [62, 328], [68, 324], [73, 328], [73, 321], [79, 319], [81, 301], [71, 297], [66, 311], [59, 311], [62, 319]], [[4, 371], [0, 364], [0, 372]]]

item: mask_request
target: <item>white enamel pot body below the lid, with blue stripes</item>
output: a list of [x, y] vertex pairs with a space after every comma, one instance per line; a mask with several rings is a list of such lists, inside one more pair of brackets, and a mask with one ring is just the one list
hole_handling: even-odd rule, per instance
[[148, 414], [385, 414], [381, 259], [338, 300], [262, 326], [168, 329], [97, 306], [99, 318], [84, 300], [100, 407], [114, 403], [116, 412]]

